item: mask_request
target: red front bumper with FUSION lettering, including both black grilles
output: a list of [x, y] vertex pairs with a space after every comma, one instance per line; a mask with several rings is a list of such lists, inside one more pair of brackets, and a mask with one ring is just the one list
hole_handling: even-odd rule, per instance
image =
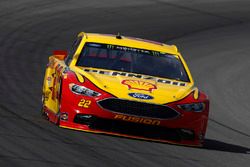
[[[60, 119], [60, 127], [179, 145], [202, 145], [208, 108], [202, 113], [186, 113], [180, 111], [175, 103], [139, 104], [112, 95], [102, 98], [67, 95], [62, 96], [60, 111], [67, 113], [68, 119]], [[91, 101], [89, 107], [79, 107], [83, 98], [84, 101]], [[167, 112], [162, 114], [165, 109]], [[141, 115], [136, 113], [137, 110]]]

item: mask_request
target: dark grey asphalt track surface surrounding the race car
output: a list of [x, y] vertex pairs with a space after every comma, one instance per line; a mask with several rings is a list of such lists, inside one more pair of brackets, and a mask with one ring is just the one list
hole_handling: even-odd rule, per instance
[[[1, 0], [0, 166], [250, 166], [250, 1]], [[204, 148], [58, 128], [41, 118], [48, 56], [79, 31], [177, 44], [211, 99]]]

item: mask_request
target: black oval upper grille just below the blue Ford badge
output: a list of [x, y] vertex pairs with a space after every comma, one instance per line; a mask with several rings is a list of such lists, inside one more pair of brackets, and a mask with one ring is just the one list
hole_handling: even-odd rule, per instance
[[141, 117], [172, 119], [179, 115], [178, 112], [168, 106], [129, 101], [123, 99], [105, 99], [99, 101], [98, 104], [103, 109], [112, 112]]

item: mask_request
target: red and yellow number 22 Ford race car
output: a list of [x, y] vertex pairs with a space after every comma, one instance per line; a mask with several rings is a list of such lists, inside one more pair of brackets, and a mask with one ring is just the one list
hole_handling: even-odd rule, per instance
[[78, 34], [46, 67], [42, 113], [59, 127], [202, 146], [209, 99], [175, 45]]

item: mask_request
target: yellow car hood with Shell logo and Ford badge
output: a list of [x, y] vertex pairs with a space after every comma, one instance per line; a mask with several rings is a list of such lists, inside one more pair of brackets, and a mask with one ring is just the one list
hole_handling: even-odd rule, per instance
[[170, 79], [92, 68], [77, 70], [100, 89], [117, 98], [166, 104], [181, 100], [193, 84]]

